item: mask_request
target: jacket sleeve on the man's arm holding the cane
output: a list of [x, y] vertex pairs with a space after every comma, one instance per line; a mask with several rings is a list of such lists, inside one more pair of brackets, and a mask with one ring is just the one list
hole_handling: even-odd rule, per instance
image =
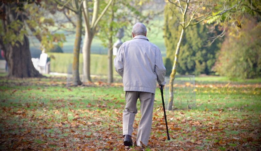
[[155, 59], [155, 73], [157, 75], [157, 81], [159, 85], [165, 85], [166, 81], [165, 81], [165, 75], [166, 75], [166, 68], [163, 65], [163, 61], [162, 61], [162, 55], [160, 53], [160, 50], [157, 51], [158, 53], [156, 53], [156, 59]]

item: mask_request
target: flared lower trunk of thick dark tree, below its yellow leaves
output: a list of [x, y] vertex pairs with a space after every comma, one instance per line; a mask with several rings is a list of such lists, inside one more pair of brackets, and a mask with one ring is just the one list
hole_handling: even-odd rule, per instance
[[42, 77], [34, 68], [29, 50], [29, 40], [24, 35], [24, 41], [11, 44], [0, 44], [5, 52], [8, 65], [8, 77]]

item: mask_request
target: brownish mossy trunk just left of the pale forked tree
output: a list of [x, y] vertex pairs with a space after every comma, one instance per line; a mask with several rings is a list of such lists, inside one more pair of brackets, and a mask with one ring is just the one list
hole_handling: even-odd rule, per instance
[[73, 85], [81, 85], [79, 76], [79, 54], [80, 54], [80, 45], [81, 45], [81, 35], [82, 35], [82, 15], [81, 11], [76, 14], [76, 34], [73, 47], [73, 61], [72, 61], [72, 77]]

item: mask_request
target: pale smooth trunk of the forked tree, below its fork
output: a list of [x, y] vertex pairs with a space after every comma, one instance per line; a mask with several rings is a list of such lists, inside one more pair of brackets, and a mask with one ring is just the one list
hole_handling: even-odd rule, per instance
[[89, 32], [85, 28], [85, 38], [84, 38], [84, 44], [83, 44], [83, 81], [88, 82], [92, 81], [91, 79], [91, 73], [90, 73], [90, 67], [91, 67], [91, 44], [93, 39], [92, 32]]

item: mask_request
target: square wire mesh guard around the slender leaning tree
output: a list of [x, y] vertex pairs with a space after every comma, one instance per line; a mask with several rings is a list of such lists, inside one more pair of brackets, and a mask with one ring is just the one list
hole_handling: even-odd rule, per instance
[[165, 107], [168, 110], [172, 109], [191, 109], [195, 107], [195, 76], [194, 75], [175, 75], [173, 83], [173, 102], [169, 101], [170, 85], [169, 77], [165, 79], [166, 85], [164, 88]]

